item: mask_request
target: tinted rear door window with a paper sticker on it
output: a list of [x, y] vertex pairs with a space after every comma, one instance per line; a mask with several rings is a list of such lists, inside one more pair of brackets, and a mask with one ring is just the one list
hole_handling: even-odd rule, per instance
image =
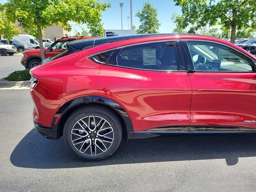
[[117, 65], [145, 70], [178, 70], [175, 42], [142, 44], [122, 48]]

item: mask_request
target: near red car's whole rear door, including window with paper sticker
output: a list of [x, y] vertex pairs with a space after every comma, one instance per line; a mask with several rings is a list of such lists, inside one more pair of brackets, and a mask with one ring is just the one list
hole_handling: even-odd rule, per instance
[[178, 41], [117, 48], [100, 69], [99, 93], [126, 110], [134, 131], [188, 131], [192, 89]]

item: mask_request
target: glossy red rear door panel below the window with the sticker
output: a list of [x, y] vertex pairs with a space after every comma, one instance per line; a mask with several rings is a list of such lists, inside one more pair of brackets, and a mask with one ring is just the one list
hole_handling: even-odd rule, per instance
[[102, 66], [99, 82], [100, 96], [114, 100], [126, 110], [134, 131], [190, 123], [192, 89], [187, 72]]

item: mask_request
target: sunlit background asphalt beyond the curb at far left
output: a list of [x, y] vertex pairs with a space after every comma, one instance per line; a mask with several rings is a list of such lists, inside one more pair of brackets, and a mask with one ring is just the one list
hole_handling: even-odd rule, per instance
[[20, 60], [21, 54], [0, 56], [0, 79], [8, 76], [11, 72], [24, 70]]

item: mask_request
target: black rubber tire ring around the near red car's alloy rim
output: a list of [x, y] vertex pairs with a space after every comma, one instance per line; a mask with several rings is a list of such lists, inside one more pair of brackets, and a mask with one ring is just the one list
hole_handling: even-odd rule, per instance
[[[84, 118], [89, 115], [100, 116], [100, 117], [104, 118], [105, 120], [107, 120], [110, 123], [110, 125], [112, 126], [113, 131], [114, 131], [114, 140], [113, 140], [110, 148], [108, 148], [108, 150], [106, 152], [96, 155], [96, 156], [95, 155], [94, 156], [84, 155], [81, 152], [79, 152], [73, 146], [71, 137], [70, 137], [71, 129], [73, 128], [74, 124], [81, 118]], [[94, 160], [95, 161], [95, 160], [102, 160], [104, 158], [107, 158], [117, 150], [118, 146], [120, 145], [121, 139], [122, 139], [122, 128], [121, 128], [120, 121], [114, 114], [112, 114], [110, 112], [106, 113], [105, 110], [97, 110], [95, 108], [84, 108], [84, 110], [75, 111], [69, 116], [68, 120], [66, 121], [66, 123], [64, 125], [63, 136], [64, 136], [64, 141], [66, 143], [66, 146], [75, 156], [77, 156], [78, 158], [84, 159], [84, 160]]]

